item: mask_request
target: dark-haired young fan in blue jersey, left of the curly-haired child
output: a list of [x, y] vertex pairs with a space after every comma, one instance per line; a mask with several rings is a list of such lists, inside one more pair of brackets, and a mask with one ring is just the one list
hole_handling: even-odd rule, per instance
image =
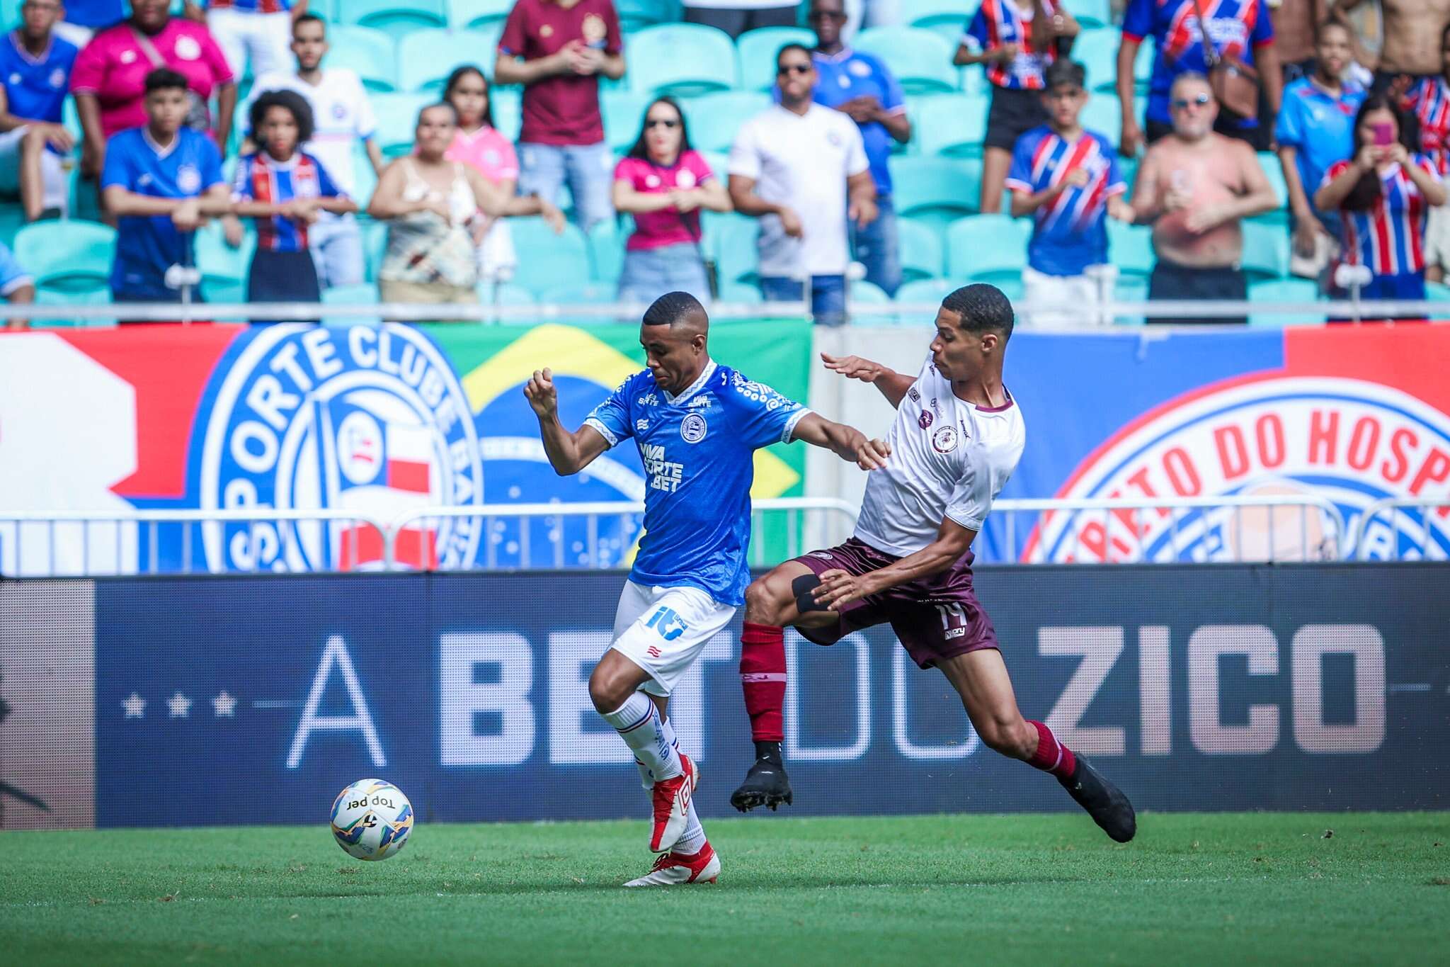
[[181, 302], [167, 273], [194, 265], [196, 229], [232, 207], [222, 155], [206, 133], [184, 125], [188, 110], [186, 78], [158, 67], [146, 75], [146, 125], [106, 142], [100, 184], [117, 217], [115, 302]]

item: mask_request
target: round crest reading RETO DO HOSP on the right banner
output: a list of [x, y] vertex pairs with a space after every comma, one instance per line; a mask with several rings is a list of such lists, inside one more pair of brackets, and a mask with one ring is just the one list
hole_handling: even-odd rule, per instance
[[[1269, 377], [1169, 403], [1092, 454], [1060, 497], [1311, 496], [1333, 507], [1058, 512], [1028, 561], [1369, 560], [1450, 555], [1450, 512], [1364, 522], [1382, 497], [1450, 481], [1450, 416], [1379, 383]], [[1362, 548], [1351, 547], [1356, 538]], [[1424, 551], [1421, 551], [1424, 548]]]

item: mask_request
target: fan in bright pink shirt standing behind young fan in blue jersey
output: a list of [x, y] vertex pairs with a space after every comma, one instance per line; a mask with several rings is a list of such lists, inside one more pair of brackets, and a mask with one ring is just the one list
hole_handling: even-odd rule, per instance
[[173, 17], [168, 0], [133, 0], [130, 9], [129, 20], [91, 38], [71, 71], [71, 93], [86, 132], [83, 173], [100, 171], [112, 135], [146, 123], [146, 74], [157, 67], [181, 74], [202, 104], [216, 93], [216, 112], [188, 116], [187, 123], [209, 129], [225, 154], [236, 83], [222, 48], [203, 25]]

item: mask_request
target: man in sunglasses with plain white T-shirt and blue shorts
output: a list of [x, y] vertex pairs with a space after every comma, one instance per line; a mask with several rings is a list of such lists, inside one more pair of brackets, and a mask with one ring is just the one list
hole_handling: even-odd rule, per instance
[[861, 132], [850, 116], [812, 101], [811, 51], [787, 43], [776, 55], [780, 103], [741, 125], [729, 151], [735, 210], [760, 219], [760, 290], [796, 302], [811, 283], [811, 315], [845, 322], [847, 219], [876, 220]]

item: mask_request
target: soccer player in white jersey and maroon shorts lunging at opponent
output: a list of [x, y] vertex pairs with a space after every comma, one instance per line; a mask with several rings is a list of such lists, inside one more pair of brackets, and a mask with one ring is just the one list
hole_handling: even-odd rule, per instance
[[1022, 718], [996, 632], [972, 590], [972, 541], [1016, 468], [1027, 439], [1022, 413], [1002, 383], [1012, 304], [993, 286], [966, 286], [937, 312], [937, 336], [921, 373], [822, 357], [896, 407], [892, 454], [866, 484], [856, 534], [786, 561], [745, 592], [741, 684], [755, 764], [731, 796], [741, 812], [789, 803], [780, 758], [786, 692], [783, 628], [831, 645], [889, 622], [922, 668], [938, 667], [961, 696], [989, 748], [1051, 773], [1116, 839], [1137, 829], [1132, 803], [1041, 722]]

